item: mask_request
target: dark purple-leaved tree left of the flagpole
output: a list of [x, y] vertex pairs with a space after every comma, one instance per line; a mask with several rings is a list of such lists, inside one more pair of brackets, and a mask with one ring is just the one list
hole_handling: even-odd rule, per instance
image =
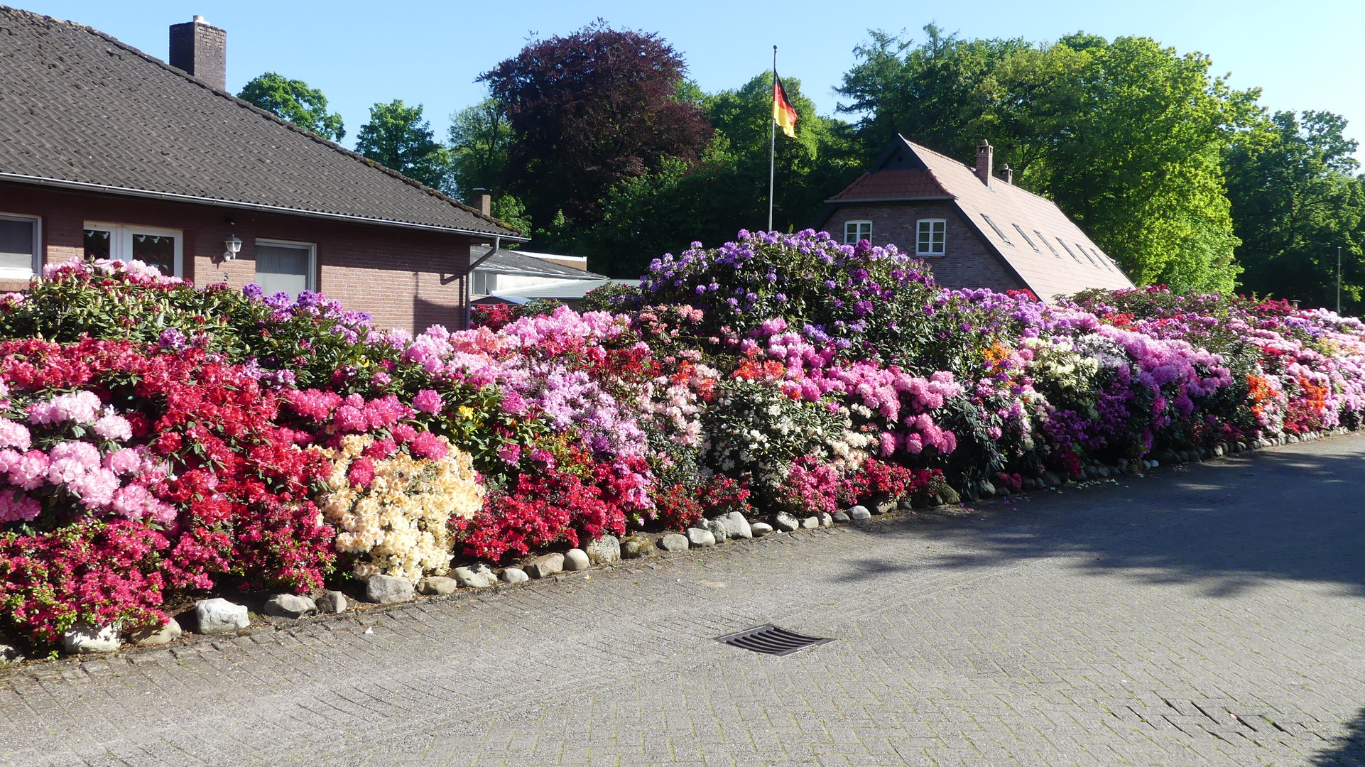
[[515, 138], [511, 191], [531, 217], [590, 224], [616, 184], [693, 160], [710, 136], [696, 104], [677, 98], [687, 66], [657, 34], [597, 22], [532, 42], [479, 76]]

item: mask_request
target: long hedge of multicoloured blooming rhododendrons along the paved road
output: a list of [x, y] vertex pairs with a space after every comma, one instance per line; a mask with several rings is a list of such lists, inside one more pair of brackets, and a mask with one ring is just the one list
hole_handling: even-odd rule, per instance
[[37, 643], [154, 624], [175, 594], [415, 581], [1365, 418], [1357, 319], [950, 291], [816, 232], [741, 232], [581, 311], [416, 336], [318, 293], [76, 261], [0, 298], [0, 632]]

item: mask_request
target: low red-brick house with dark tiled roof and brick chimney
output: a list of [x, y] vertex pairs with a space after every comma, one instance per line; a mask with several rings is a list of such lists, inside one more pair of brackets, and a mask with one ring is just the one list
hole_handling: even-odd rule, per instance
[[227, 33], [201, 16], [171, 27], [171, 64], [5, 7], [0, 38], [0, 289], [138, 258], [416, 332], [464, 325], [471, 246], [526, 242], [486, 197], [470, 207], [228, 94]]

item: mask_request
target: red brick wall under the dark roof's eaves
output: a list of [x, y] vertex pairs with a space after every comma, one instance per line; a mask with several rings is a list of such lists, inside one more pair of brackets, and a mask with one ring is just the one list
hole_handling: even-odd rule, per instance
[[[4, 183], [0, 213], [42, 217], [46, 263], [85, 252], [86, 221], [182, 229], [183, 276], [201, 285], [251, 283], [257, 237], [314, 243], [318, 289], [347, 308], [369, 311], [377, 328], [457, 329], [465, 321], [470, 240], [457, 235]], [[224, 261], [229, 235], [242, 239], [242, 252]]]

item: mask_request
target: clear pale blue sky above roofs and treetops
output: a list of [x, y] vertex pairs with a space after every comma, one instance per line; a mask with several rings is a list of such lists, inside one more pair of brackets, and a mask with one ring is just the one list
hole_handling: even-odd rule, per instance
[[[799, 78], [830, 113], [833, 87], [853, 64], [868, 29], [908, 30], [936, 22], [966, 37], [1043, 41], [1085, 30], [1152, 37], [1181, 52], [1201, 50], [1234, 87], [1260, 86], [1272, 109], [1345, 115], [1365, 143], [1365, 3], [1361, 0], [1106, 0], [1028, 3], [976, 0], [597, 3], [401, 1], [263, 3], [195, 0], [8, 0], [22, 8], [90, 25], [165, 59], [167, 27], [201, 14], [228, 30], [228, 89], [263, 71], [322, 89], [345, 119], [349, 145], [369, 105], [403, 98], [426, 105], [438, 136], [450, 112], [482, 97], [479, 72], [515, 55], [532, 35], [549, 37], [602, 18], [618, 27], [658, 31], [684, 53], [706, 90], [743, 85], [771, 63]], [[1365, 158], [1365, 151], [1357, 157]]]

